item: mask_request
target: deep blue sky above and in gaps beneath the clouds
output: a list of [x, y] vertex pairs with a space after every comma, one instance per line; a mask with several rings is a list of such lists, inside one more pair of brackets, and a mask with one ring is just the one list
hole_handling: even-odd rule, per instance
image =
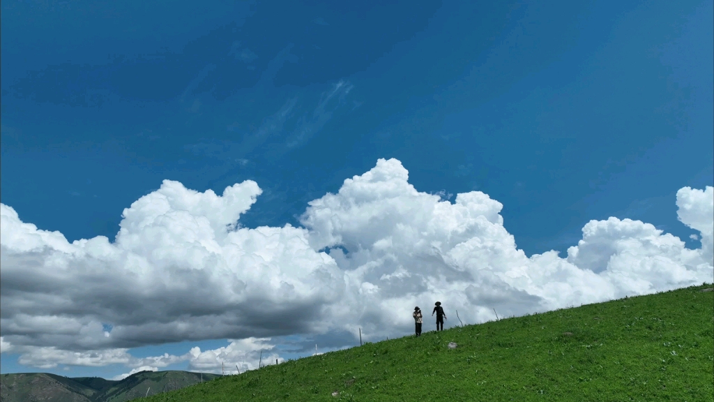
[[[162, 180], [218, 195], [254, 180], [240, 225], [301, 227], [308, 202], [394, 158], [419, 192], [501, 202], [528, 257], [564, 258], [608, 217], [700, 247], [675, 201], [714, 182], [712, 2], [483, 3], [4, 1], [1, 202], [112, 242]], [[271, 336], [299, 354], [338, 333]], [[130, 353], [193, 345], [227, 341]], [[4, 373], [38, 370], [18, 356]], [[64, 367], [49, 370], [128, 371]]]

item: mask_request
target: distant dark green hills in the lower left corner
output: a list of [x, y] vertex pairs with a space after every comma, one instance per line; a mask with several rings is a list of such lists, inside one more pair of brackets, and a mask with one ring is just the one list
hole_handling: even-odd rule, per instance
[[0, 402], [124, 402], [211, 381], [216, 374], [188, 371], [142, 371], [121, 381], [98, 377], [69, 378], [49, 373], [0, 375]]

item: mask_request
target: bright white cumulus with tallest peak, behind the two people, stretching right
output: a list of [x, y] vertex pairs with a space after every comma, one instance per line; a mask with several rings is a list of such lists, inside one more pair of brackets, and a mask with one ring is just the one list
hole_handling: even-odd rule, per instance
[[[685, 187], [680, 200], [693, 205], [686, 225], [711, 227], [714, 218], [701, 206], [711, 203], [711, 187]], [[389, 323], [411, 323], [414, 305], [437, 299], [478, 322], [493, 318], [493, 308], [523, 314], [713, 277], [706, 247], [688, 250], [653, 225], [614, 217], [585, 225], [567, 258], [554, 251], [527, 258], [503, 225], [500, 202], [483, 192], [459, 194], [453, 204], [418, 192], [398, 160], [380, 160], [309, 204], [301, 222], [311, 245], [328, 250], [348, 283], [333, 315], [356, 315], [380, 336], [391, 332]]]

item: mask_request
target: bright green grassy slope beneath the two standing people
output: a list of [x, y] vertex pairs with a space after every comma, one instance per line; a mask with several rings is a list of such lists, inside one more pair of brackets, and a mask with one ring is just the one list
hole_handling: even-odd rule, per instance
[[710, 287], [368, 343], [146, 401], [713, 401]]

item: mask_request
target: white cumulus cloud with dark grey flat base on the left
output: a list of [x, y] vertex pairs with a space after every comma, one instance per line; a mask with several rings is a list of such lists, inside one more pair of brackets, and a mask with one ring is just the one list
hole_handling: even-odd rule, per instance
[[[299, 333], [344, 291], [307, 231], [238, 227], [260, 189], [165, 181], [124, 210], [116, 242], [66, 241], [0, 205], [6, 341], [63, 350]], [[106, 336], [104, 324], [112, 326]]]

